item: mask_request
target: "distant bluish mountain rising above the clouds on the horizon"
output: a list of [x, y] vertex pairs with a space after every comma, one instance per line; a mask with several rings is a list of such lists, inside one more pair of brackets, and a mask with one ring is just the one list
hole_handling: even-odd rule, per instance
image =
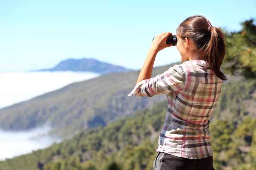
[[127, 69], [121, 66], [114, 66], [109, 63], [100, 62], [92, 58], [82, 59], [68, 59], [61, 61], [57, 66], [50, 69], [42, 69], [39, 71], [74, 71], [74, 72], [95, 72], [101, 74], [115, 73], [115, 72], [128, 72], [131, 69]]

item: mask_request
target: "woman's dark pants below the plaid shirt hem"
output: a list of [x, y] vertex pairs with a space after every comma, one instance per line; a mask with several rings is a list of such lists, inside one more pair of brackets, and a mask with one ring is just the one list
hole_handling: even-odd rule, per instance
[[213, 157], [187, 159], [158, 152], [154, 161], [154, 170], [214, 170]]

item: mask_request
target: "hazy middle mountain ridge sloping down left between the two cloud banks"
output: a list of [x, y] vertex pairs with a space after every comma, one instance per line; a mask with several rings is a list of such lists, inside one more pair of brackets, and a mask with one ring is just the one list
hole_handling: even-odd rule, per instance
[[[172, 65], [154, 68], [153, 75]], [[47, 123], [54, 129], [52, 133], [66, 138], [81, 130], [105, 126], [166, 100], [165, 95], [127, 97], [136, 84], [138, 74], [139, 71], [104, 74], [2, 108], [1, 129], [28, 130]]]

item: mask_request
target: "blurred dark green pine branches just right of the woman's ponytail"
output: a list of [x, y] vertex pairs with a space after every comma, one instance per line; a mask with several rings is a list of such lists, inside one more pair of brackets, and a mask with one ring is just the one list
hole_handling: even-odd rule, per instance
[[254, 19], [241, 24], [241, 32], [226, 33], [223, 68], [233, 75], [256, 77], [256, 26]]

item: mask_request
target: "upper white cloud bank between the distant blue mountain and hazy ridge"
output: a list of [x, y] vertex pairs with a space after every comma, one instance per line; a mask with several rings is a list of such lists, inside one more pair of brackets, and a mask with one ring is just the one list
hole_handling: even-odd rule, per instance
[[0, 108], [60, 89], [70, 83], [95, 78], [89, 72], [0, 72]]

